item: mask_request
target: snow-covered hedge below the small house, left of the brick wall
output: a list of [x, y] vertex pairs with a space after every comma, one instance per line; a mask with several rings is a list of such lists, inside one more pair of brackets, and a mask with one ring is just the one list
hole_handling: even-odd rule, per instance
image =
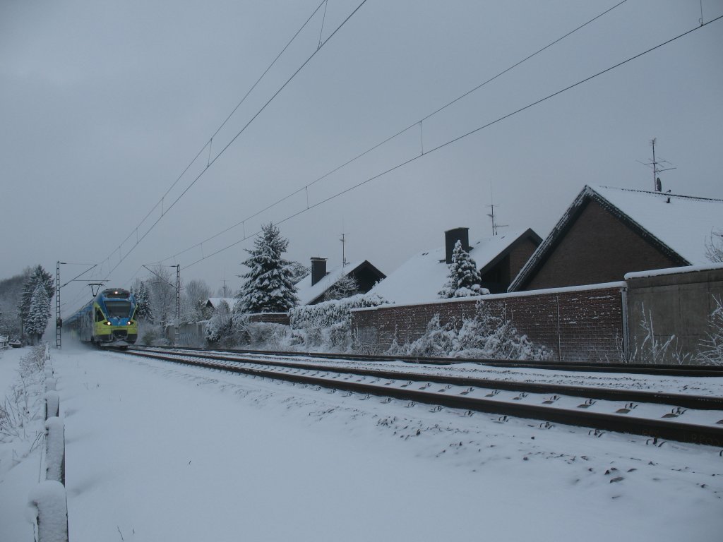
[[288, 311], [293, 341], [304, 347], [348, 350], [351, 347], [351, 309], [379, 306], [377, 294], [357, 294], [343, 299], [304, 305]]

